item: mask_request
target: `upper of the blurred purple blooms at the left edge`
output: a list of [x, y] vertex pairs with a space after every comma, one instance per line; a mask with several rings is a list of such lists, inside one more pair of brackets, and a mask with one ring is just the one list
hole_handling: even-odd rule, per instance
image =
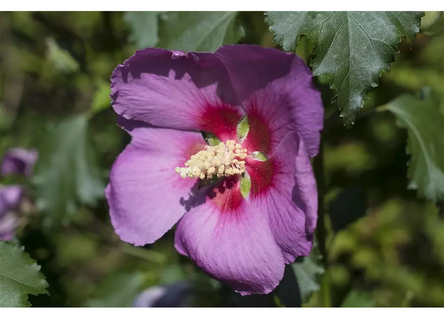
[[32, 174], [34, 163], [38, 159], [36, 150], [22, 148], [9, 149], [1, 160], [1, 175], [6, 176], [13, 173], [23, 174], [29, 177]]

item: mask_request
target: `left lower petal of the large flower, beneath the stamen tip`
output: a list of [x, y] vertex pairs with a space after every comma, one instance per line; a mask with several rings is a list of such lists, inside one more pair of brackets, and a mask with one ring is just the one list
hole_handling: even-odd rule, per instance
[[[122, 124], [122, 123], [121, 123]], [[189, 209], [195, 180], [175, 172], [204, 145], [199, 133], [122, 124], [131, 143], [115, 160], [105, 195], [117, 235], [134, 245], [153, 243]]]

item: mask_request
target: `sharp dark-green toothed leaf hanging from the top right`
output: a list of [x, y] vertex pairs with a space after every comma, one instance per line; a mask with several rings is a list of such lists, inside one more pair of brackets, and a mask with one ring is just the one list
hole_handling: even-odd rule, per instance
[[378, 85], [381, 71], [389, 72], [396, 44], [411, 42], [419, 32], [423, 11], [267, 11], [274, 40], [294, 51], [301, 35], [315, 44], [313, 75], [326, 75], [337, 91], [344, 124], [351, 127]]

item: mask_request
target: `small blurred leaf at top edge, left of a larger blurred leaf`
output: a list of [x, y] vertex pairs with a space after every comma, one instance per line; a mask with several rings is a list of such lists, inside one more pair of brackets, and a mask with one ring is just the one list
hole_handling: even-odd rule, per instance
[[124, 20], [132, 30], [131, 40], [136, 43], [137, 49], [156, 46], [159, 41], [158, 16], [165, 10], [125, 11]]

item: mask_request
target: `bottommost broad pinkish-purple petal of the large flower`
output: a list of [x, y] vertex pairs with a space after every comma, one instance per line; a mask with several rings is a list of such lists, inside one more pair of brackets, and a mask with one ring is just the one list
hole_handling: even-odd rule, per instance
[[267, 294], [283, 277], [280, 249], [264, 216], [243, 199], [239, 178], [198, 191], [178, 224], [175, 246], [242, 295]]

